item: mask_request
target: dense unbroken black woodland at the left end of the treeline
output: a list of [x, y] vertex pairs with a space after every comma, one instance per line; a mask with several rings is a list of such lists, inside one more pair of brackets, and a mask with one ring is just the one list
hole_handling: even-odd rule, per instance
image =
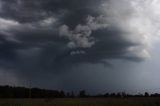
[[64, 91], [0, 86], [0, 98], [63, 98]]

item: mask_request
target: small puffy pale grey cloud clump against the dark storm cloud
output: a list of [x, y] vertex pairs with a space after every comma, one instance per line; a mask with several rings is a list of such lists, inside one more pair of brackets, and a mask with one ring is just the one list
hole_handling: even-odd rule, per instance
[[60, 27], [59, 33], [60, 36], [70, 40], [68, 43], [69, 48], [90, 48], [95, 44], [95, 39], [91, 36], [93, 31], [107, 27], [104, 20], [103, 16], [97, 18], [88, 16], [86, 25], [79, 24], [73, 31], [67, 25], [63, 25]]

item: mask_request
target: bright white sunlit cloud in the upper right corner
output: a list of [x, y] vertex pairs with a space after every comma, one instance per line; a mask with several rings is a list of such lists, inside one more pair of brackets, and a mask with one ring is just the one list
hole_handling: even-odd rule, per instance
[[128, 47], [128, 56], [150, 57], [150, 48], [159, 40], [160, 2], [155, 0], [111, 0], [103, 4], [108, 24], [119, 29], [130, 42], [137, 46]]

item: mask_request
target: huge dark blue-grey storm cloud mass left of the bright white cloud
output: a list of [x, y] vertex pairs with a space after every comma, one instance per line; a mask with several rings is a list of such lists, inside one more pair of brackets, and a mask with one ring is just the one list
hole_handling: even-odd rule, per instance
[[103, 2], [0, 0], [1, 67], [33, 77], [85, 63], [143, 60], [129, 49], [141, 44], [124, 37], [127, 32], [114, 22], [107, 22], [112, 15], [103, 14]]

